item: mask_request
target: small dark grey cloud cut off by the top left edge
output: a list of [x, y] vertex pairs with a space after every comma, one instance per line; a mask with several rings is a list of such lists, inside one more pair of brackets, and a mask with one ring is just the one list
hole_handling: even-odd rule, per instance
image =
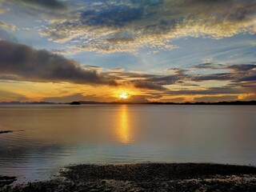
[[16, 2], [26, 2], [29, 4], [34, 4], [38, 6], [44, 6], [50, 9], [63, 9], [66, 6], [63, 2], [58, 0], [15, 0]]

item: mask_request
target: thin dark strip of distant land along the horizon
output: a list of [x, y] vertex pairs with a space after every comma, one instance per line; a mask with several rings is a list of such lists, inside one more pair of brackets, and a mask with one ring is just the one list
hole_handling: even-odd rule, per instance
[[89, 104], [126, 104], [126, 105], [212, 105], [212, 106], [255, 106], [256, 101], [234, 101], [234, 102], [94, 102], [94, 101], [74, 101], [74, 102], [0, 102], [0, 105], [89, 105]]

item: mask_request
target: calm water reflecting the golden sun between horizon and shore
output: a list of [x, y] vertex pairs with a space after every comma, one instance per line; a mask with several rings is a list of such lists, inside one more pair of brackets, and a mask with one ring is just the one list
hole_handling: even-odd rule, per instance
[[47, 179], [77, 163], [256, 165], [256, 106], [0, 106], [0, 174]]

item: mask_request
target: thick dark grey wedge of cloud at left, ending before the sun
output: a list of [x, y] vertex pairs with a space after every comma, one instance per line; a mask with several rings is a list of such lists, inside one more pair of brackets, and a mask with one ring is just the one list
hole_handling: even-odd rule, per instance
[[0, 74], [15, 76], [19, 81], [117, 85], [96, 70], [86, 70], [78, 62], [47, 50], [6, 41], [0, 41], [0, 50]]

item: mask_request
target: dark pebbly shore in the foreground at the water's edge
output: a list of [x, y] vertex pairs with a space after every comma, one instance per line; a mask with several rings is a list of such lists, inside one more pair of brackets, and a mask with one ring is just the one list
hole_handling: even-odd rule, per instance
[[30, 182], [8, 191], [256, 191], [256, 167], [206, 163], [78, 165], [67, 167], [50, 181]]

